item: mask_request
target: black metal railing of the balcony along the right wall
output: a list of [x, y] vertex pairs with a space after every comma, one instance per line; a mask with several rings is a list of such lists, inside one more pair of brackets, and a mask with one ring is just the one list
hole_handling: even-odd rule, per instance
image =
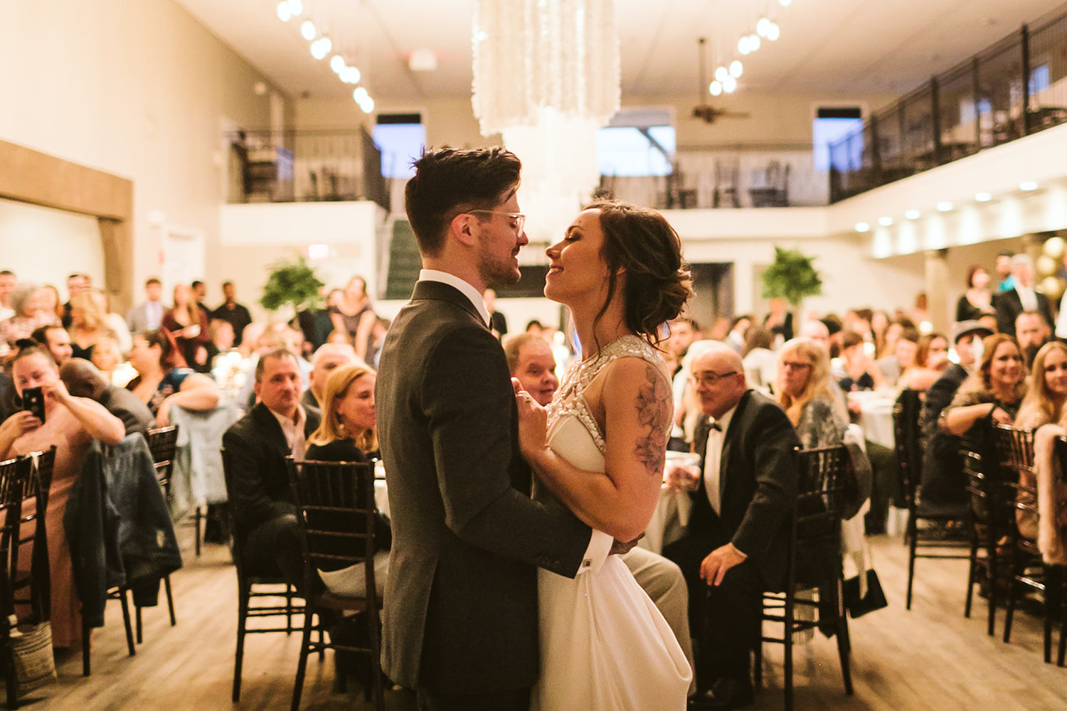
[[1067, 13], [934, 77], [830, 146], [830, 201], [1067, 123]]

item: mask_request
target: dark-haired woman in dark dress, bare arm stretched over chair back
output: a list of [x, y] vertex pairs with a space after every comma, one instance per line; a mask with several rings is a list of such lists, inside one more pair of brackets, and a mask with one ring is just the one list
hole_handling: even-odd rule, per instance
[[214, 409], [219, 405], [219, 386], [207, 375], [185, 367], [163, 329], [149, 330], [133, 339], [130, 365], [138, 375], [126, 389], [148, 406], [161, 427], [170, 421], [171, 405], [192, 410]]

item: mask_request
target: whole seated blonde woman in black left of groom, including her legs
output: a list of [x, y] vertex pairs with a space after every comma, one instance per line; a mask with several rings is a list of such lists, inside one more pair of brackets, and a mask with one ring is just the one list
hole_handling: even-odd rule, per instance
[[[346, 344], [347, 345], [347, 344]], [[351, 348], [351, 346], [349, 346]], [[321, 349], [320, 349], [321, 350]], [[375, 418], [375, 371], [355, 359], [330, 372], [322, 388], [322, 419], [307, 438], [304, 458], [320, 462], [366, 462], [378, 457], [378, 423]], [[385, 589], [389, 569], [389, 522], [379, 515], [375, 524], [375, 587]], [[320, 573], [322, 571], [320, 570]], [[363, 595], [366, 577], [363, 565], [322, 575], [327, 588], [337, 595]]]

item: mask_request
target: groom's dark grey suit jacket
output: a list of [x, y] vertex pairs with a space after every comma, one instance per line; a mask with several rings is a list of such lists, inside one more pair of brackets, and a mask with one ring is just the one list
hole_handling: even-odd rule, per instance
[[531, 685], [537, 566], [573, 577], [590, 529], [529, 498], [507, 359], [459, 290], [415, 286], [376, 400], [393, 519], [383, 669], [444, 694]]

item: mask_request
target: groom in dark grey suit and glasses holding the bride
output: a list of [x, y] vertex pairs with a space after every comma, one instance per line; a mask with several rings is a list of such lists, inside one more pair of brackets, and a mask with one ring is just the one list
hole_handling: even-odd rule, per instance
[[527, 711], [537, 566], [574, 577], [612, 542], [532, 501], [519, 454], [481, 293], [520, 277], [522, 164], [498, 147], [441, 148], [415, 168], [404, 201], [423, 271], [385, 337], [376, 391], [393, 518], [382, 668], [420, 710]]

